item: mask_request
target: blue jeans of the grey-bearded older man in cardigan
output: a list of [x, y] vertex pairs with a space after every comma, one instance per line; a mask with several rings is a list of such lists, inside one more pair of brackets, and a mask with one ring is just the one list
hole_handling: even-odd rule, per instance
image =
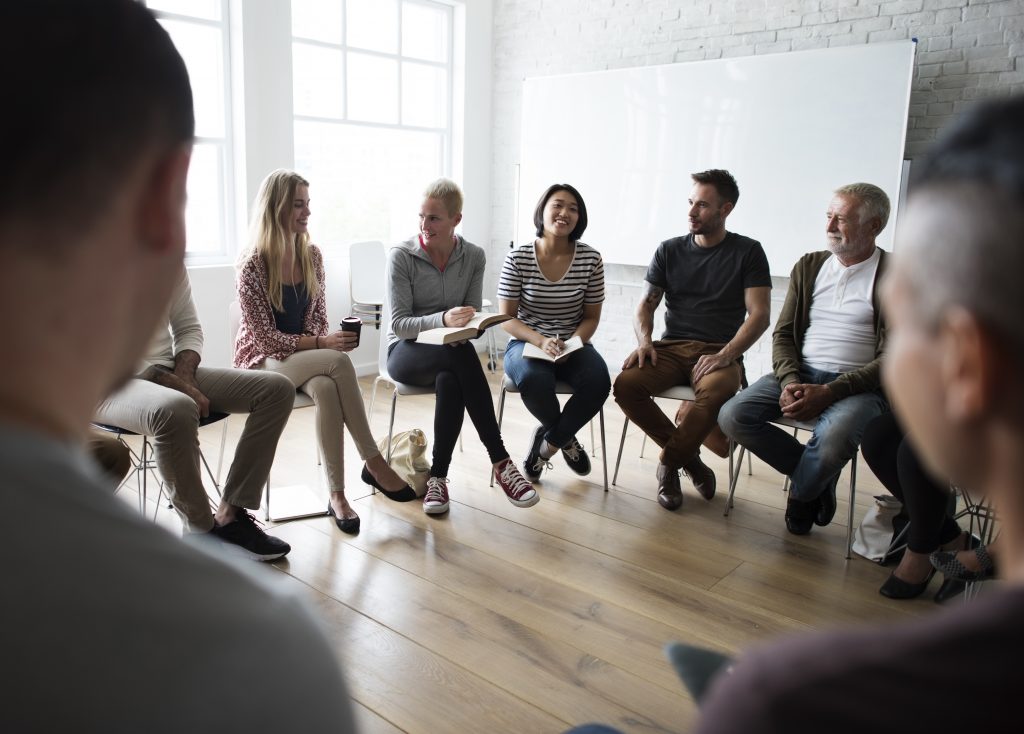
[[[826, 385], [839, 375], [804, 366], [800, 381]], [[806, 445], [772, 425], [782, 416], [782, 394], [774, 375], [765, 375], [722, 406], [718, 424], [725, 434], [776, 471], [790, 476], [791, 498], [812, 502], [821, 492], [836, 492], [840, 472], [857, 452], [864, 427], [889, 409], [881, 391], [862, 392], [834, 402], [818, 416]]]

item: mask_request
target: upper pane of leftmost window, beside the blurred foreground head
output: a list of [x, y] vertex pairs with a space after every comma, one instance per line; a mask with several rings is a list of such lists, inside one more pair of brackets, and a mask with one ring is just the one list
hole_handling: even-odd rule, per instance
[[196, 134], [224, 136], [224, 54], [219, 28], [183, 20], [161, 20], [188, 69]]

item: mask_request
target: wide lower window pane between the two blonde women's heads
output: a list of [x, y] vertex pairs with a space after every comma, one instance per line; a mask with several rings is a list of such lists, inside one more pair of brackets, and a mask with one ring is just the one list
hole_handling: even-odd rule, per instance
[[295, 121], [295, 166], [309, 180], [313, 242], [398, 242], [416, 233], [423, 188], [440, 175], [441, 133]]

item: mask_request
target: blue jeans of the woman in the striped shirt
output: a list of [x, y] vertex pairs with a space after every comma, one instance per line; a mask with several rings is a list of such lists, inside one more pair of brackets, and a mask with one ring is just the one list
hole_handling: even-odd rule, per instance
[[[509, 341], [505, 348], [505, 374], [515, 383], [526, 409], [541, 422], [545, 439], [555, 446], [567, 446], [608, 397], [611, 378], [608, 365], [592, 344], [558, 363], [522, 356], [525, 342]], [[572, 386], [565, 407], [558, 404], [555, 382]]]

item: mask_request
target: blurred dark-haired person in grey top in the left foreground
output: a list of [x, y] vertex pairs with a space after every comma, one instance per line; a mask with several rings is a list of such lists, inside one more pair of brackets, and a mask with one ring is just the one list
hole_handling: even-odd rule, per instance
[[38, 0], [0, 5], [0, 731], [350, 731], [304, 605], [146, 522], [84, 447], [181, 271], [184, 62], [140, 3]]

